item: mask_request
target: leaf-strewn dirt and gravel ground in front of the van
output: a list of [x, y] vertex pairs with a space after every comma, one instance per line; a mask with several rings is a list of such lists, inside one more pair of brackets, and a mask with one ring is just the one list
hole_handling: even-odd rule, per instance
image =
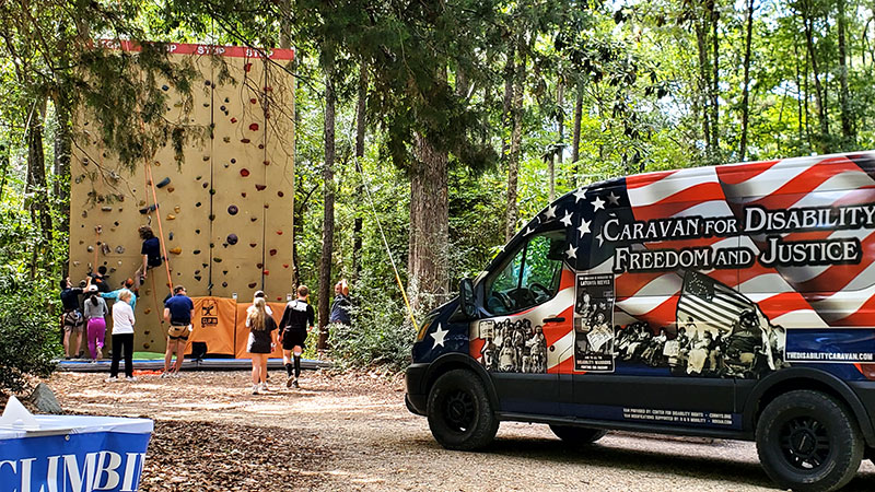
[[[481, 453], [443, 449], [404, 406], [404, 380], [305, 372], [250, 395], [247, 372], [104, 383], [59, 373], [65, 410], [149, 417], [143, 491], [755, 491], [773, 488], [750, 443], [610, 433], [570, 449], [546, 425], [504, 422]], [[865, 461], [848, 490], [875, 490]]]

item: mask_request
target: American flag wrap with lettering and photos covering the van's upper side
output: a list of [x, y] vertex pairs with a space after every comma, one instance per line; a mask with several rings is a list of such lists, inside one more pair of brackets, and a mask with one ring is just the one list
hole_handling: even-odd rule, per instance
[[875, 154], [858, 153], [570, 192], [509, 244], [562, 235], [561, 251], [545, 246], [561, 254], [549, 300], [471, 321], [468, 352], [491, 372], [759, 378], [808, 364], [860, 379], [875, 356], [873, 173]]

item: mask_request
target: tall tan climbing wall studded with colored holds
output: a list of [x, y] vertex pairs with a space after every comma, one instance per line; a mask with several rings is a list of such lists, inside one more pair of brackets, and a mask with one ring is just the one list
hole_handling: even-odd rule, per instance
[[[252, 302], [256, 290], [277, 302], [292, 293], [294, 94], [282, 67], [293, 52], [264, 58], [243, 47], [168, 49], [200, 73], [189, 112], [162, 84], [167, 119], [203, 134], [187, 143], [184, 162], [165, 147], [133, 173], [121, 169], [96, 138], [100, 121], [82, 115], [71, 164], [74, 283], [105, 266], [115, 289], [142, 263], [138, 227], [150, 225], [163, 238], [172, 271], [149, 272], [135, 313], [135, 349], [148, 351], [164, 350], [160, 315], [171, 283], [185, 285], [191, 297], [236, 295], [241, 302]], [[220, 77], [223, 68], [231, 79]]]

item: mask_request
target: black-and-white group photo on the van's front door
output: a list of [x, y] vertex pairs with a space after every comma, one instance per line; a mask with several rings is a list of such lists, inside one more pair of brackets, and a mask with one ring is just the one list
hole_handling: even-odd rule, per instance
[[502, 373], [546, 373], [547, 338], [540, 325], [526, 318], [480, 321], [480, 338], [486, 340], [480, 360], [487, 371]]

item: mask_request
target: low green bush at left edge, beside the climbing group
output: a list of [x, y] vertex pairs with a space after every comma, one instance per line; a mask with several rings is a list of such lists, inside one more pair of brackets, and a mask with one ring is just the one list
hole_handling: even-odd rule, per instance
[[60, 354], [59, 323], [39, 291], [0, 296], [0, 391], [22, 391], [30, 376], [48, 376]]

